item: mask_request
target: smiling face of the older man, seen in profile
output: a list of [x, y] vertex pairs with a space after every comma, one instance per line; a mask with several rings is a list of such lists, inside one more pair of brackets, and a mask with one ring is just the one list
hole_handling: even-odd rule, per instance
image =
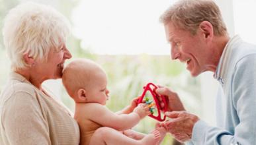
[[189, 31], [175, 28], [169, 22], [165, 25], [165, 34], [171, 45], [171, 59], [179, 59], [182, 63], [186, 63], [192, 76], [207, 71], [211, 54], [201, 32], [192, 35]]

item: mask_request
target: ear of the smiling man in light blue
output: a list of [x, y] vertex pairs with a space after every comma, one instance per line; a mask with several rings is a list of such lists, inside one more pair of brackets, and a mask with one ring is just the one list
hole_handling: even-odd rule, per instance
[[199, 30], [202, 32], [205, 39], [212, 40], [214, 36], [214, 28], [210, 22], [202, 21], [199, 24]]

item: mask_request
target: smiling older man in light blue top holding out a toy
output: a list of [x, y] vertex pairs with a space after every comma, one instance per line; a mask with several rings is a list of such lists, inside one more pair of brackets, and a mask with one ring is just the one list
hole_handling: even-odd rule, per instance
[[256, 46], [239, 36], [228, 36], [214, 1], [178, 1], [160, 20], [171, 44], [171, 58], [186, 63], [192, 76], [214, 72], [220, 83], [217, 127], [185, 111], [179, 96], [165, 87], [157, 93], [167, 96], [169, 111], [165, 114], [171, 120], [161, 125], [177, 140], [189, 144], [255, 144]]

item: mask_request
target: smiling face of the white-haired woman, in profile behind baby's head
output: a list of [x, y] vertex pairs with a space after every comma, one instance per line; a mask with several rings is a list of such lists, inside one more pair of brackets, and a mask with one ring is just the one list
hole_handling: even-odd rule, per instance
[[72, 55], [65, 47], [65, 44], [61, 45], [59, 51], [53, 48], [50, 49], [47, 60], [36, 63], [38, 64], [38, 74], [42, 74], [44, 80], [61, 78], [65, 59], [70, 59], [71, 57]]

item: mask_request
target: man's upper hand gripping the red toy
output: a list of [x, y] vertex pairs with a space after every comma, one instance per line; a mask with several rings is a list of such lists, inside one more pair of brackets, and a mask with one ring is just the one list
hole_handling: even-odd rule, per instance
[[[183, 107], [183, 103], [179, 99], [179, 96], [177, 93], [172, 92], [171, 89], [167, 87], [158, 86], [155, 90], [159, 96], [165, 96], [165, 100], [167, 102], [167, 111], [185, 111], [185, 108]], [[158, 98], [160, 101], [161, 108], [163, 109], [164, 103], [161, 98]]]

